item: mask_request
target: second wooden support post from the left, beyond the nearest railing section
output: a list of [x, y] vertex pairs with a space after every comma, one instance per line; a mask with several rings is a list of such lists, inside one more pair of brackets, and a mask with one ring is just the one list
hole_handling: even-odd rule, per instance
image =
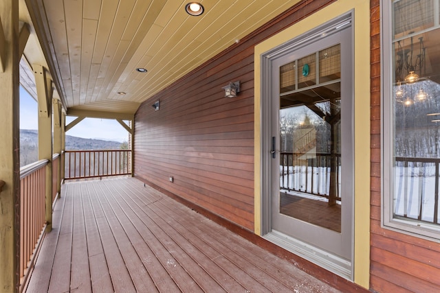
[[39, 99], [39, 160], [46, 166], [46, 232], [52, 231], [52, 80], [41, 65], [34, 67], [36, 95]]

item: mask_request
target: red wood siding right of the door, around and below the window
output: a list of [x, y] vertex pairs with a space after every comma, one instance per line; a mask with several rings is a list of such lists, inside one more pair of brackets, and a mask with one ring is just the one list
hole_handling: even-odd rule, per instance
[[381, 228], [380, 1], [371, 0], [371, 279], [377, 292], [439, 292], [440, 245]]

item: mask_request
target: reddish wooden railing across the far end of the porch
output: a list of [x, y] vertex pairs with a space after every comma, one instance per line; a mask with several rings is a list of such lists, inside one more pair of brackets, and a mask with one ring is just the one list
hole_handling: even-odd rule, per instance
[[67, 150], [65, 179], [131, 174], [131, 150]]

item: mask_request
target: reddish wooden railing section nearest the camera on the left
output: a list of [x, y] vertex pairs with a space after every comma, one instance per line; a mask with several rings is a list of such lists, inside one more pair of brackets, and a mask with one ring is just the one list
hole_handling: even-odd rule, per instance
[[20, 169], [20, 258], [21, 284], [33, 266], [45, 229], [46, 166], [41, 160]]

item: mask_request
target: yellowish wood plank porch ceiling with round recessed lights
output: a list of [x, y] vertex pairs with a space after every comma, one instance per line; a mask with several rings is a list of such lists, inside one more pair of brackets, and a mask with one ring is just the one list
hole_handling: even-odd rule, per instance
[[29, 72], [43, 63], [67, 115], [133, 114], [298, 1], [203, 0], [205, 12], [190, 16], [189, 0], [20, 0], [21, 21], [31, 27], [22, 84], [32, 93]]

